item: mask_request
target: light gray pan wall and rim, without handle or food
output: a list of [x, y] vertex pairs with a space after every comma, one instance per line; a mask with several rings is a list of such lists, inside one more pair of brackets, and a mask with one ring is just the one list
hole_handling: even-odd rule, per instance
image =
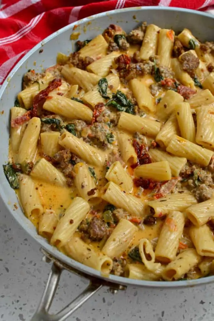
[[[136, 19], [133, 19], [133, 16], [135, 16]], [[4, 110], [4, 113], [0, 114], [0, 194], [8, 211], [16, 219], [17, 224], [19, 223], [32, 238], [39, 242], [41, 247], [47, 250], [47, 252], [79, 271], [103, 279], [104, 277], [100, 272], [70, 259], [59, 252], [55, 247], [49, 245], [45, 239], [37, 234], [33, 224], [22, 213], [22, 210], [18, 205], [16, 194], [9, 186], [2, 168], [2, 164], [5, 164], [8, 160], [10, 108], [14, 106], [15, 97], [21, 90], [21, 78], [28, 69], [35, 69], [36, 72], [41, 72], [42, 68], [47, 68], [56, 64], [57, 52], [60, 51], [68, 54], [73, 51], [74, 41], [70, 40], [70, 35], [73, 32], [73, 26], [75, 24], [78, 24], [79, 26], [75, 31], [81, 32], [79, 40], [85, 40], [92, 39], [99, 33], [102, 33], [102, 31], [111, 23], [119, 24], [128, 32], [134, 29], [142, 21], [147, 21], [148, 24], [154, 23], [161, 28], [170, 28], [175, 30], [175, 32], [182, 31], [183, 28], [188, 28], [193, 32], [194, 36], [198, 37], [201, 41], [213, 40], [214, 18], [206, 13], [161, 7], [137, 7], [100, 13], [64, 27], [35, 46], [14, 67], [0, 90], [0, 111]], [[42, 53], [39, 53], [40, 49], [43, 49]], [[14, 204], [18, 205], [18, 209], [15, 209]], [[107, 280], [126, 285], [183, 287], [213, 282], [214, 276], [191, 281], [150, 282], [110, 275]]]

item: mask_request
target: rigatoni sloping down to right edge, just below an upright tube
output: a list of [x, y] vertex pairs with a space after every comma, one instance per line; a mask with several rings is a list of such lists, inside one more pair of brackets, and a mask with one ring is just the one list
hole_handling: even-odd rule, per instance
[[167, 152], [180, 156], [186, 157], [193, 163], [199, 164], [201, 166], [208, 166], [213, 152], [206, 148], [202, 148], [188, 140], [174, 135], [167, 146]]

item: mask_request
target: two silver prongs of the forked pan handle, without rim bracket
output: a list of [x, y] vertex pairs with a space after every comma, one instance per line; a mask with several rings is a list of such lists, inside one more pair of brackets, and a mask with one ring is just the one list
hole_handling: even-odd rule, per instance
[[48, 310], [54, 299], [62, 270], [63, 268], [60, 266], [55, 263], [52, 264], [45, 291], [31, 321], [64, 321], [103, 286], [102, 281], [99, 281], [99, 279], [96, 279], [96, 282], [90, 280], [88, 287], [76, 299], [58, 313], [49, 314]]

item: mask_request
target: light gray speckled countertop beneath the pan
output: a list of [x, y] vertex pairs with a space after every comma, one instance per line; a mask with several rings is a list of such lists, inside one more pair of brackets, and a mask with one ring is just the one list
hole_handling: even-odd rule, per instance
[[[0, 320], [29, 321], [50, 269], [39, 245], [26, 234], [0, 199]], [[51, 311], [65, 306], [87, 285], [64, 272]], [[179, 290], [129, 287], [113, 295], [101, 289], [70, 321], [213, 321], [214, 284]]]

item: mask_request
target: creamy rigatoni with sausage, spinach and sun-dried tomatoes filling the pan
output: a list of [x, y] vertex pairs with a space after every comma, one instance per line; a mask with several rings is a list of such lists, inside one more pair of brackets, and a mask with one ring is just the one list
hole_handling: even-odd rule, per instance
[[161, 27], [94, 30], [5, 106], [24, 214], [106, 277], [214, 274], [213, 44]]

